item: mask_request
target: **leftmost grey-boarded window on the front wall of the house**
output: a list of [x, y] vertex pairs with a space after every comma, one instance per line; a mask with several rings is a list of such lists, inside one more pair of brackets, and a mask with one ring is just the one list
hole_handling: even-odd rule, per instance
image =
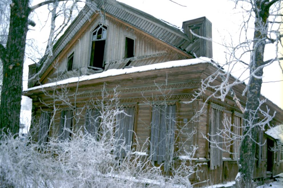
[[48, 129], [50, 123], [50, 112], [42, 112], [39, 119], [38, 143], [42, 144], [48, 141]]

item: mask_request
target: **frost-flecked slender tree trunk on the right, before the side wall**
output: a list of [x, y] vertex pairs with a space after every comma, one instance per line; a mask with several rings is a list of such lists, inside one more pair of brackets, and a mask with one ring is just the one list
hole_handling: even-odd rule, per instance
[[[250, 78], [249, 88], [247, 94], [246, 109], [244, 113], [244, 119], [247, 121], [244, 122], [245, 126], [255, 125], [258, 121], [257, 109], [259, 106], [260, 90], [262, 84], [262, 75], [263, 68], [259, 68], [264, 65], [263, 56], [265, 48], [265, 39], [267, 36], [267, 18], [269, 16], [269, 7], [267, 5], [269, 0], [256, 0], [254, 1], [254, 12], [255, 12], [255, 23], [254, 23], [254, 43], [253, 43], [253, 52], [252, 52], [252, 61], [250, 62], [250, 73], [255, 72], [254, 75]], [[258, 69], [258, 70], [256, 70]], [[251, 113], [256, 113], [254, 117], [251, 116]], [[248, 130], [244, 130], [244, 135]], [[255, 164], [255, 150], [256, 143], [253, 140], [256, 140], [259, 127], [253, 127], [251, 129], [250, 137], [246, 136], [242, 141], [240, 148], [240, 168], [239, 179], [236, 179], [236, 187], [249, 188], [253, 186], [253, 172]]]

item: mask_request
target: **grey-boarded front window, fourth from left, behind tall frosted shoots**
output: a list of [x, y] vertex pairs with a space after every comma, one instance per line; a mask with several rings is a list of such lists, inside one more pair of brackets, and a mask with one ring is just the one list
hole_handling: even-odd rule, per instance
[[130, 151], [133, 139], [134, 107], [123, 107], [124, 113], [116, 115], [115, 138], [119, 139], [116, 155], [122, 159]]

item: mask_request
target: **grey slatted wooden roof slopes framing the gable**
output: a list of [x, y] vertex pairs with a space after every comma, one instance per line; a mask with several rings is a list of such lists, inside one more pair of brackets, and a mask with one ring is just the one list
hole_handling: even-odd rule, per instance
[[[94, 0], [92, 1], [95, 4]], [[99, 1], [101, 2], [101, 1]], [[97, 7], [101, 7], [101, 3], [97, 3]], [[135, 9], [124, 3], [115, 0], [105, 0], [104, 8], [106, 16], [113, 16], [124, 23], [127, 23], [148, 35], [159, 39], [175, 48], [177, 51], [187, 54], [189, 57], [194, 57], [192, 54], [199, 53], [199, 40], [191, 41], [189, 37], [177, 27], [169, 25], [164, 21], [153, 17], [152, 15]], [[37, 70], [41, 70], [39, 77], [41, 77], [59, 53], [66, 47], [76, 33], [82, 28], [82, 26], [91, 20], [95, 10], [89, 6], [85, 6], [71, 25], [66, 29], [65, 33], [58, 39], [53, 46], [53, 56], [48, 59], [43, 57], [40, 61], [40, 65]]]

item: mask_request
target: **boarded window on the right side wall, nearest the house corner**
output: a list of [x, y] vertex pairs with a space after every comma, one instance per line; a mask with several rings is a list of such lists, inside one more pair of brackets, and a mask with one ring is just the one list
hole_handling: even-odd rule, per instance
[[[222, 165], [222, 150], [218, 147], [222, 147], [222, 138], [219, 133], [222, 129], [222, 110], [220, 109], [210, 109], [210, 149], [209, 149], [209, 157], [210, 157], [210, 169], [216, 169], [217, 166], [220, 167]], [[216, 144], [214, 143], [217, 143]]]

